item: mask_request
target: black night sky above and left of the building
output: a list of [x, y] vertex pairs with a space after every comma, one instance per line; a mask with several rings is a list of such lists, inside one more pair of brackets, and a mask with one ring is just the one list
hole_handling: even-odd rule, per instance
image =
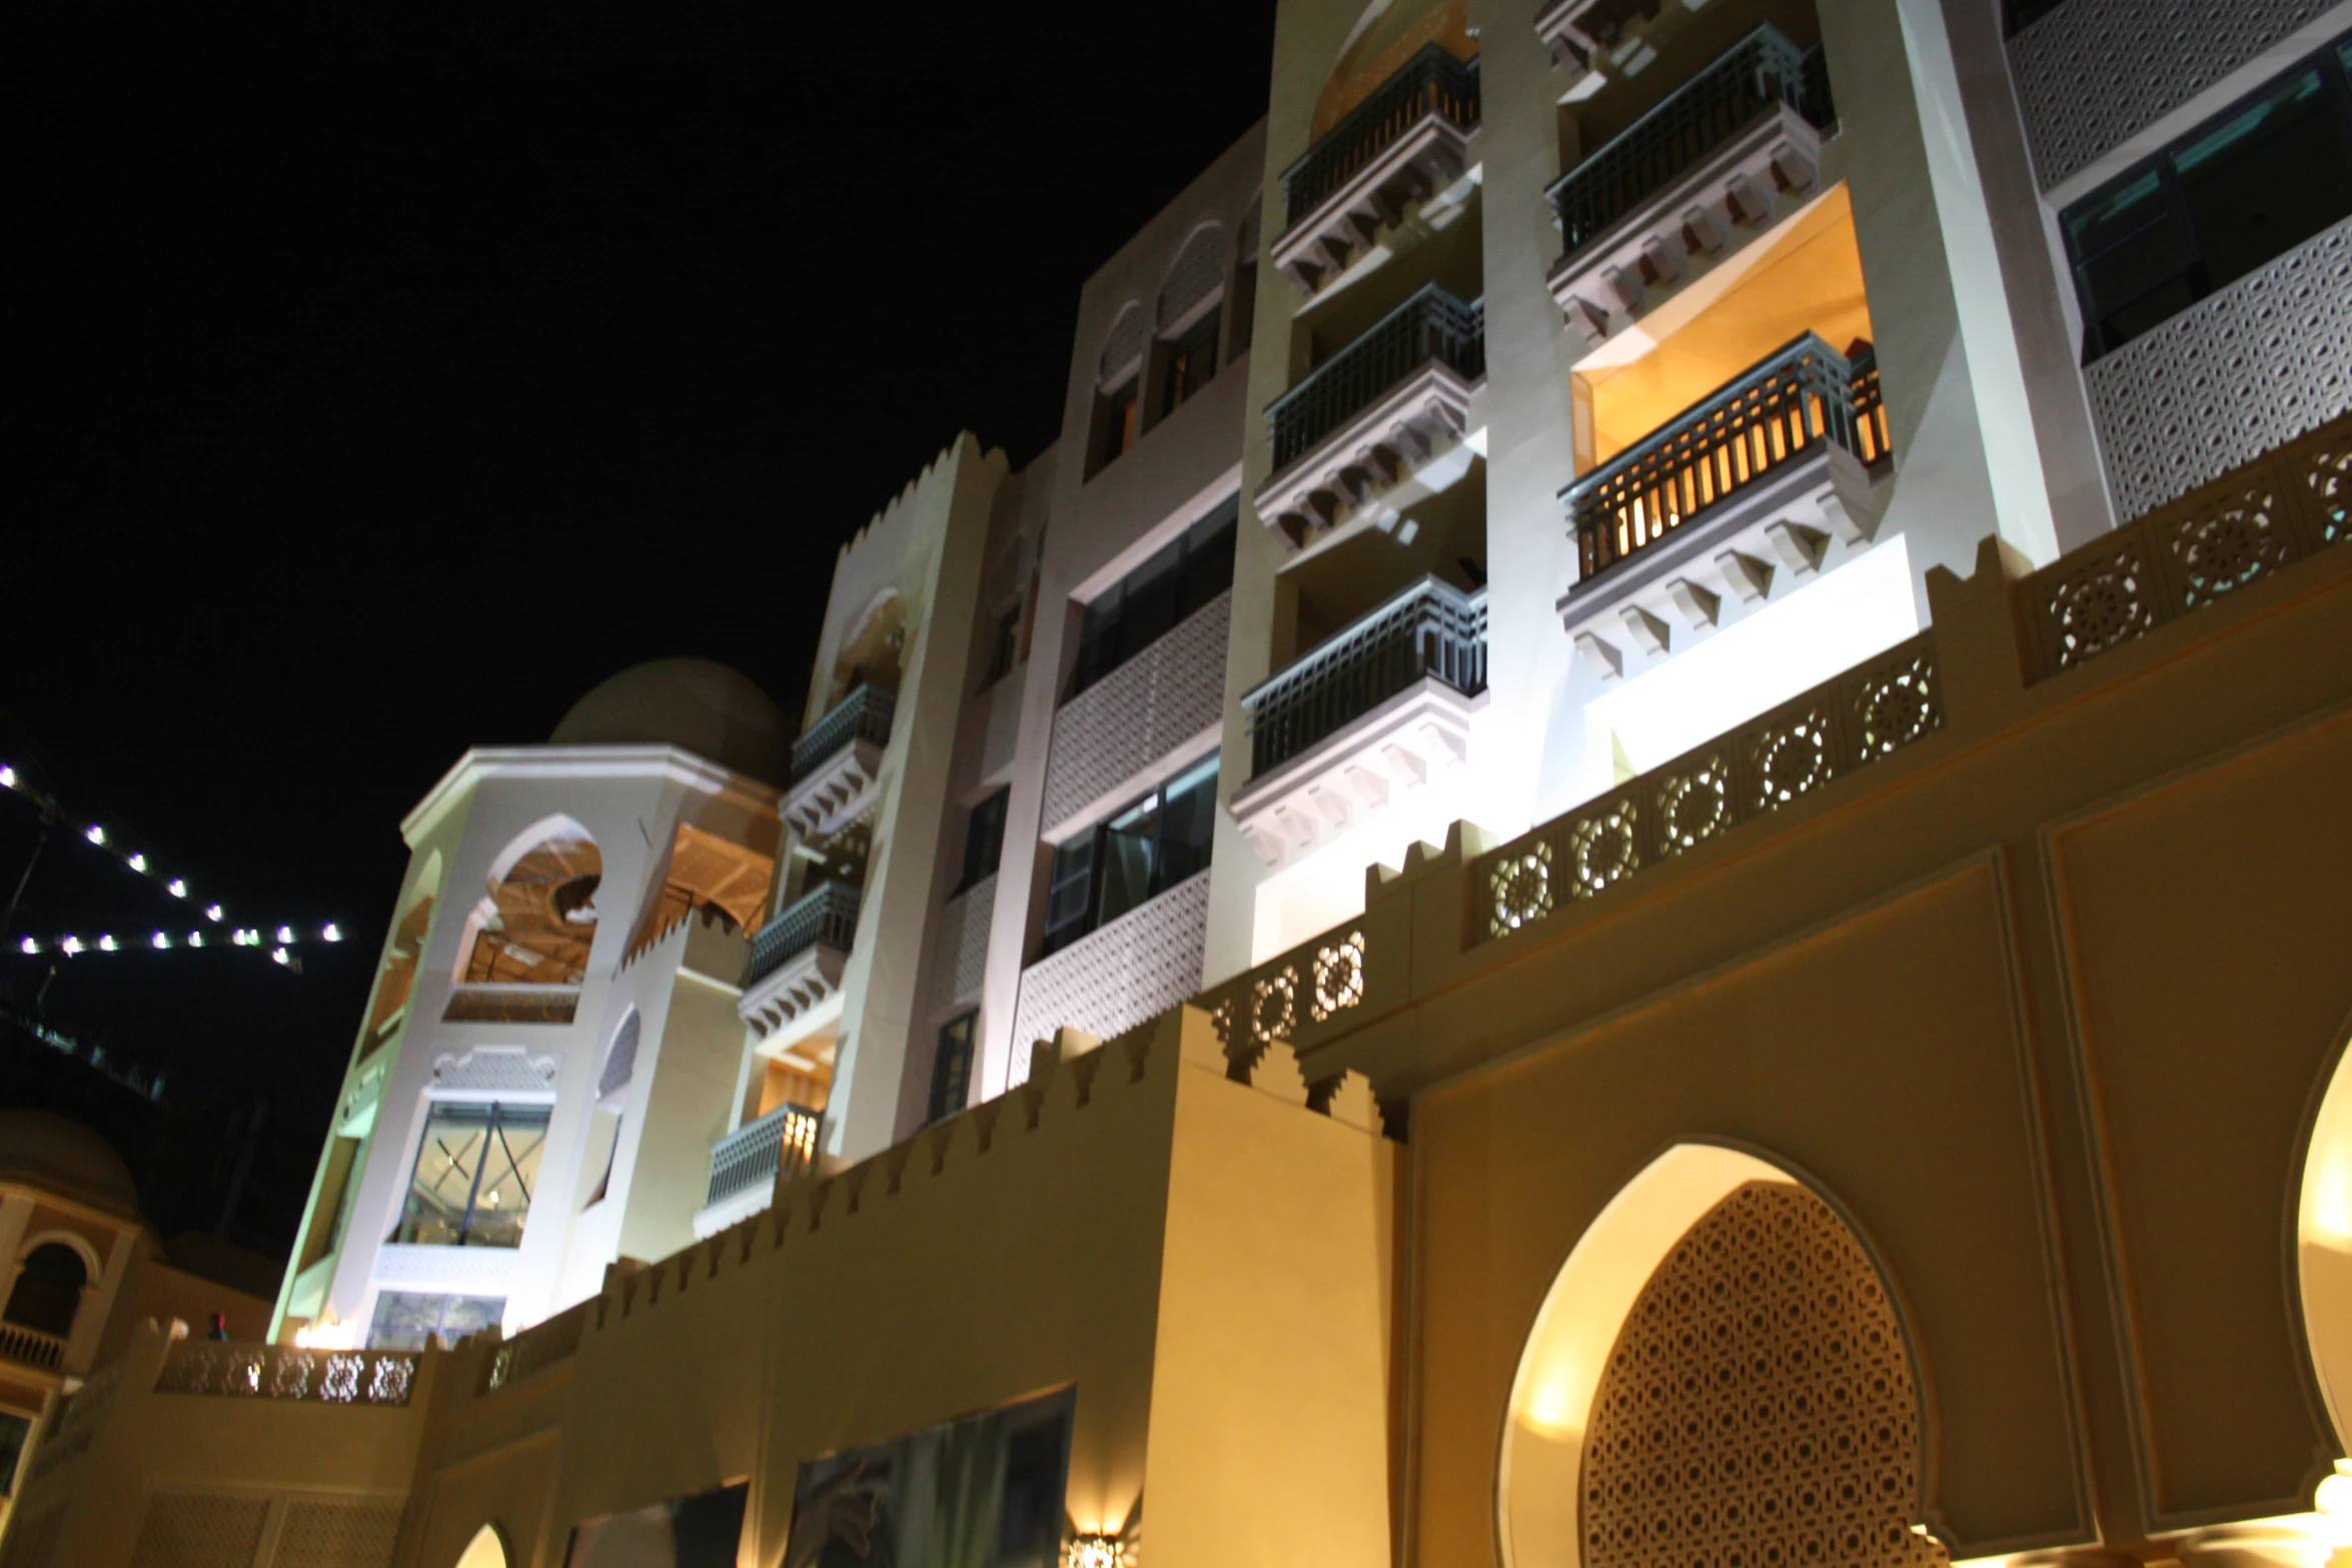
[[[835, 548], [1058, 435], [1080, 282], [1261, 113], [1272, 0], [66, 5], [9, 24], [0, 762], [52, 1023], [325, 1121], [405, 846], [604, 675], [797, 710]], [[1115, 21], [1105, 21], [1115, 19]], [[1014, 26], [1018, 24], [1018, 26]], [[0, 792], [0, 898], [38, 816]]]

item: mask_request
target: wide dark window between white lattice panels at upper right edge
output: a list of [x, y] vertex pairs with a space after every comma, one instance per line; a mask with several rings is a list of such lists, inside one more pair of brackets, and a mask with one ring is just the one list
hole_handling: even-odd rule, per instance
[[2086, 360], [2352, 214], [2345, 49], [2267, 82], [2060, 214]]

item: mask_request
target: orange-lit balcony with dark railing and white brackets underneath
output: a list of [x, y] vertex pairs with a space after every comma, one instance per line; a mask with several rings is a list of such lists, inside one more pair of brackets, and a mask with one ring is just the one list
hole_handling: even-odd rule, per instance
[[1559, 491], [1578, 578], [1559, 599], [1576, 651], [1604, 682], [1625, 649], [1672, 651], [1724, 599], [1762, 604], [1776, 574], [1820, 571], [1877, 529], [1872, 470], [1889, 461], [1877, 360], [1806, 334]]

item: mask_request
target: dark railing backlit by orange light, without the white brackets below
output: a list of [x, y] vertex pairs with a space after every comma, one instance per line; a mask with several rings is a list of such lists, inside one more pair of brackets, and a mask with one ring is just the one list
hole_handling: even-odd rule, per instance
[[1825, 442], [1877, 465], [1886, 409], [1877, 355], [1860, 346], [1846, 360], [1809, 331], [1559, 491], [1578, 583]]

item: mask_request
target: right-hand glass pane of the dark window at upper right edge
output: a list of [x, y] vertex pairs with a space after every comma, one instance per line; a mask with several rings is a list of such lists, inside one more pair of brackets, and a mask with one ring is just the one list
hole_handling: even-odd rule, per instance
[[2265, 92], [2173, 155], [2206, 287], [2220, 289], [2352, 212], [2352, 150], [2319, 73]]

